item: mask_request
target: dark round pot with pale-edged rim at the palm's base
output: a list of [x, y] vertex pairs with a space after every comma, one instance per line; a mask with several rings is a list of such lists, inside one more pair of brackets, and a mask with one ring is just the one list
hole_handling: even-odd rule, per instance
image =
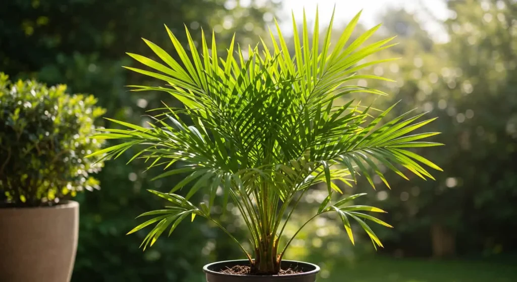
[[228, 260], [209, 263], [203, 267], [207, 282], [315, 282], [320, 267], [316, 264], [282, 260], [282, 269], [301, 270], [301, 273], [287, 275], [235, 275], [221, 273], [221, 270], [231, 269], [235, 265], [249, 265], [247, 260]]

